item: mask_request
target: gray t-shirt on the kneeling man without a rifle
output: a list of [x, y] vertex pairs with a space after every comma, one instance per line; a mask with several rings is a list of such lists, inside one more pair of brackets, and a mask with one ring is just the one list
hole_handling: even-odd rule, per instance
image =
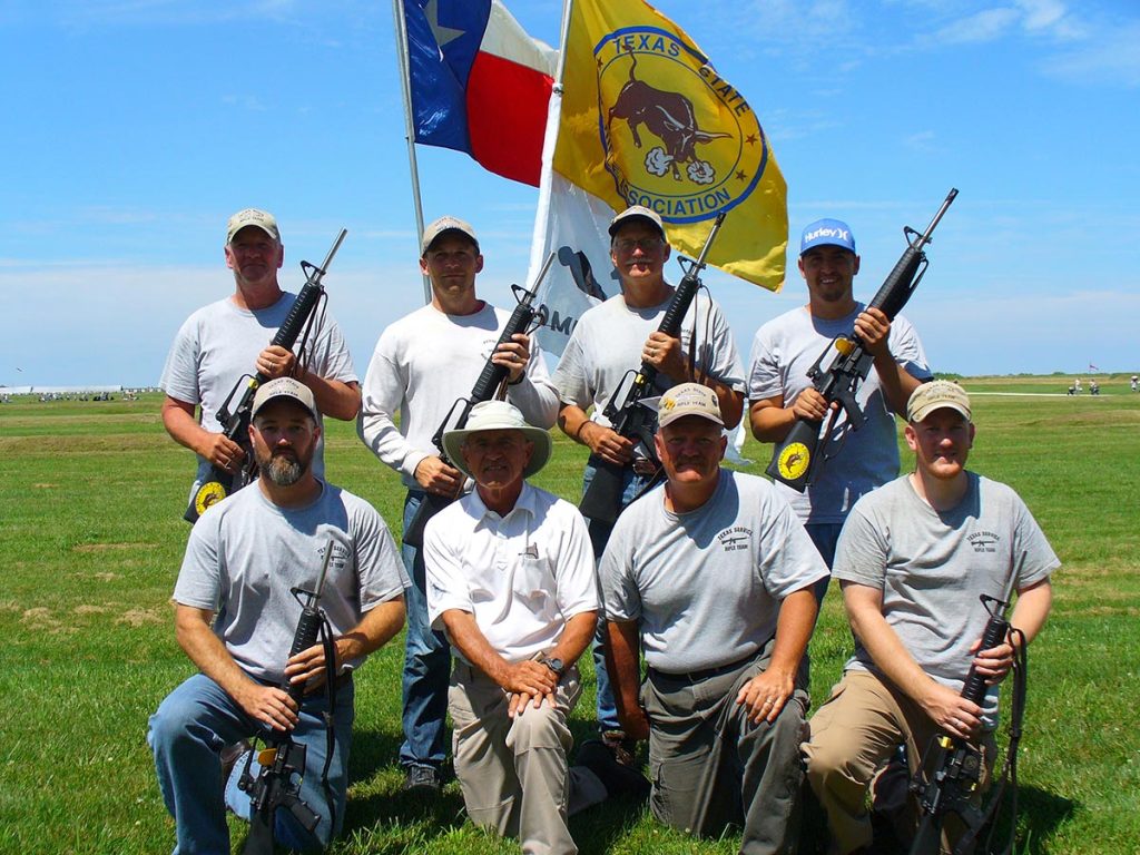
[[605, 617], [640, 621], [645, 661], [679, 674], [757, 652], [781, 601], [828, 568], [768, 481], [722, 469], [690, 513], [665, 508], [663, 484], [629, 505], [598, 572]]

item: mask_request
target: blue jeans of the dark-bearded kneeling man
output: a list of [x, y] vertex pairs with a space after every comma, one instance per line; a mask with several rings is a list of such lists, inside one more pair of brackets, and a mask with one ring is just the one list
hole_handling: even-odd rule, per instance
[[[333, 722], [335, 747], [328, 767], [328, 787], [336, 804], [332, 825], [329, 805], [320, 773], [325, 767], [326, 734], [320, 714], [327, 709], [324, 692], [304, 699], [294, 741], [306, 746], [301, 800], [320, 816], [314, 832], [306, 831], [288, 811], [277, 811], [274, 836], [290, 849], [320, 849], [340, 832], [348, 791], [349, 747], [352, 741], [353, 687], [348, 681], [336, 692]], [[250, 718], [226, 692], [206, 677], [195, 674], [158, 706], [147, 727], [147, 744], [154, 752], [154, 768], [166, 809], [174, 817], [176, 855], [229, 852], [226, 806], [249, 820], [250, 797], [236, 787], [225, 788], [221, 749], [251, 736], [269, 735], [266, 726]], [[244, 763], [244, 758], [241, 763]], [[223, 795], [225, 793], [225, 795]]]

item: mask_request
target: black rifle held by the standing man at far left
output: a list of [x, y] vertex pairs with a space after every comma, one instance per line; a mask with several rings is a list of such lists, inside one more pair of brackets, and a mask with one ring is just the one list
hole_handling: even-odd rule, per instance
[[[285, 323], [282, 324], [277, 334], [274, 335], [272, 341], [269, 342], [269, 347], [276, 345], [292, 350], [302, 331], [306, 331], [306, 335], [308, 335], [307, 327], [312, 319], [317, 304], [325, 295], [325, 288], [320, 284], [320, 280], [328, 271], [328, 266], [333, 262], [333, 255], [341, 247], [341, 242], [344, 241], [347, 234], [347, 229], [341, 229], [341, 234], [333, 242], [333, 249], [328, 251], [320, 267], [314, 267], [308, 261], [301, 262], [301, 270], [306, 275], [304, 287], [296, 295], [293, 308], [290, 309], [288, 315], [285, 317]], [[253, 409], [253, 396], [256, 394], [258, 386], [267, 380], [268, 377], [261, 372], [253, 375], [243, 374], [226, 397], [221, 409], [218, 410], [218, 422], [221, 424], [222, 434], [230, 442], [236, 442], [241, 446], [242, 451], [245, 453], [245, 456], [242, 458], [244, 462], [237, 472], [227, 472], [217, 465], [210, 467], [210, 474], [202, 482], [202, 486], [198, 487], [194, 494], [194, 498], [190, 500], [189, 507], [182, 514], [182, 519], [192, 526], [197, 522], [198, 518], [205, 513], [205, 510], [210, 505], [221, 502], [229, 494], [242, 489], [256, 478], [258, 464], [253, 459], [253, 449], [250, 446], [250, 412]], [[237, 406], [230, 409], [230, 401], [234, 400], [234, 396], [238, 391], [242, 392], [242, 397], [237, 401]]]

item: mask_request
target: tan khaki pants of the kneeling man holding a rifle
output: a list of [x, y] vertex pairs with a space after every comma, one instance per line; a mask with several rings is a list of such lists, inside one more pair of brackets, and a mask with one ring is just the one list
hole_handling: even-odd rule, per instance
[[[906, 746], [910, 776], [918, 774], [922, 759], [938, 734], [922, 709], [890, 684], [869, 671], [853, 670], [831, 690], [831, 698], [812, 716], [811, 741], [803, 747], [807, 759], [807, 780], [828, 813], [834, 842], [833, 852], [849, 853], [871, 845], [871, 817], [866, 809], [868, 790], [877, 772]], [[979, 748], [984, 758], [982, 782], [975, 800], [990, 784], [996, 741], [986, 733]], [[893, 782], [896, 790], [904, 781]], [[918, 824], [918, 803], [904, 791], [883, 793], [891, 804], [902, 805], [907, 826]], [[877, 799], [877, 804], [879, 800]], [[951, 852], [961, 834], [956, 816], [946, 817], [942, 850]]]

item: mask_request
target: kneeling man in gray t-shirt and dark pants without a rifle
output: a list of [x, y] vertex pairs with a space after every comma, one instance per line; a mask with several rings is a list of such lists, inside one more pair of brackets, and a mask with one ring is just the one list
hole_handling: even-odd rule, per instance
[[747, 855], [793, 852], [812, 585], [828, 568], [768, 481], [720, 467], [712, 390], [674, 386], [658, 424], [668, 480], [618, 518], [600, 565], [618, 715], [649, 739], [659, 820], [742, 825]]

